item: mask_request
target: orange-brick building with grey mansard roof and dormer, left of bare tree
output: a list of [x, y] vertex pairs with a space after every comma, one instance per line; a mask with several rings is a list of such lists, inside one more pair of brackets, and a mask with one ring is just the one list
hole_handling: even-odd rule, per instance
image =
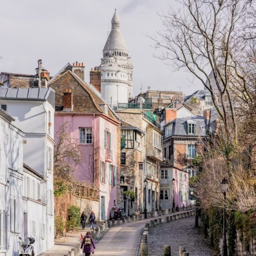
[[196, 175], [197, 170], [191, 165], [191, 161], [202, 151], [207, 137], [206, 119], [193, 114], [185, 105], [166, 108], [162, 114], [164, 161], [186, 170], [189, 176]]

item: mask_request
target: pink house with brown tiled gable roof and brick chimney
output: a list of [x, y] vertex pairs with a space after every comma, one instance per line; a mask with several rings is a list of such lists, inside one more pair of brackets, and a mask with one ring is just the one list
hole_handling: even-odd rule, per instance
[[79, 148], [81, 163], [73, 176], [78, 182], [97, 188], [99, 216], [96, 219], [108, 220], [117, 201], [120, 121], [96, 89], [73, 70], [63, 70], [50, 80], [49, 86], [57, 95], [55, 134], [67, 123]]

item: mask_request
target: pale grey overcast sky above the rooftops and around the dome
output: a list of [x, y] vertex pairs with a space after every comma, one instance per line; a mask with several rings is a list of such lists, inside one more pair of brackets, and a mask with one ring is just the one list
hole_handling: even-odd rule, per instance
[[158, 11], [174, 0], [2, 0], [0, 15], [0, 72], [34, 74], [37, 60], [51, 75], [66, 63], [84, 62], [89, 71], [100, 64], [115, 8], [120, 29], [134, 65], [134, 94], [174, 90], [190, 94], [203, 86], [185, 71], [171, 67], [153, 54], [144, 34], [161, 29]]

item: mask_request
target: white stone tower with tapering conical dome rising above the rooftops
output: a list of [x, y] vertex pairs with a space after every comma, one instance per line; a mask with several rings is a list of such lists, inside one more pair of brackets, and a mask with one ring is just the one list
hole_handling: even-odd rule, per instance
[[118, 106], [133, 97], [133, 65], [120, 31], [120, 21], [115, 10], [112, 29], [103, 49], [101, 64], [101, 96], [106, 103]]

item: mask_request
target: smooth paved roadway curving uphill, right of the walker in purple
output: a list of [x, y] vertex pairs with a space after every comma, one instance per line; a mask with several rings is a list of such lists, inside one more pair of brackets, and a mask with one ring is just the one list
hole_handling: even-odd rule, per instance
[[92, 255], [135, 255], [139, 246], [140, 231], [145, 226], [144, 221], [137, 221], [112, 227], [96, 244]]

